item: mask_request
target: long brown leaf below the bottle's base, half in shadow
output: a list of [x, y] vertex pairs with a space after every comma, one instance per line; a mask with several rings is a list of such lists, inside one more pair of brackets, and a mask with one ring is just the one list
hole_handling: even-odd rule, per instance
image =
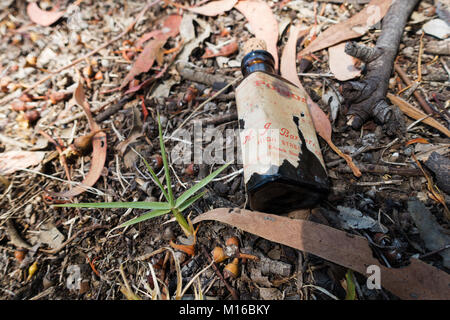
[[[374, 258], [367, 239], [307, 220], [273, 214], [218, 208], [197, 216], [193, 223], [214, 220], [292, 248], [367, 276], [367, 267], [380, 268], [381, 285], [406, 300], [450, 299], [450, 275], [412, 258], [402, 268], [387, 268]], [[280, 232], [282, 231], [282, 232]]]

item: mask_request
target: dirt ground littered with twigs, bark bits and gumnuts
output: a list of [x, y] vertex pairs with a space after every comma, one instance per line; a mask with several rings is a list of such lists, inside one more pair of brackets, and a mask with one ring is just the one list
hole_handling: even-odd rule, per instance
[[[170, 14], [188, 12], [177, 4], [195, 4], [195, 1], [160, 1], [149, 8], [122, 38], [73, 67], [54, 74], [31, 90], [27, 99], [22, 99], [25, 100], [25, 109], [19, 109], [17, 104], [23, 105], [18, 102], [22, 101], [19, 100], [20, 94], [15, 100], [4, 102], [14, 90], [20, 93], [48, 75], [49, 71], [66, 66], [113, 39], [133, 22], [146, 2], [79, 1], [50, 26], [30, 21], [26, 9], [28, 2], [7, 2], [4, 1], [0, 11], [0, 75], [1, 79], [9, 77], [10, 83], [2, 85], [0, 92], [0, 152], [21, 149], [45, 154], [37, 166], [28, 168], [32, 171], [17, 170], [0, 176], [1, 299], [122, 300], [136, 296], [167, 299], [174, 298], [180, 276], [183, 288], [194, 279], [183, 299], [196, 299], [200, 294], [205, 299], [217, 300], [233, 299], [234, 295], [240, 299], [254, 300], [348, 297], [349, 281], [345, 275], [349, 273], [346, 268], [226, 224], [202, 222], [197, 233], [196, 254], [190, 256], [175, 249], [162, 250], [170, 248], [172, 239], [177, 243], [186, 242], [182, 230], [171, 221], [170, 215], [113, 229], [137, 217], [142, 210], [52, 207], [58, 199], [49, 196], [45, 190], [68, 190], [66, 171], [53, 142], [67, 147], [75, 138], [90, 132], [82, 109], [70, 103], [80, 78], [84, 79], [86, 99], [96, 122], [106, 134], [108, 147], [104, 168], [93, 189], [74, 197], [74, 202], [161, 200], [161, 192], [151, 182], [145, 164], [132, 148], [150, 160], [161, 177], [163, 170], [159, 157], [157, 112], [161, 115], [166, 137], [182, 124], [186, 130], [193, 132], [193, 120], [207, 120], [206, 123], [225, 136], [227, 129], [238, 129], [238, 121], [233, 117], [236, 113], [236, 84], [234, 88], [231, 86], [207, 101], [224, 84], [216, 82], [213, 85], [206, 80], [193, 81], [183, 76], [177, 64], [173, 63], [176, 53], [171, 49], [181, 43], [181, 36], [176, 35], [164, 44], [162, 49], [165, 52], [156, 57], [157, 63], [148, 72], [136, 77], [139, 82], [117, 90], [140, 53], [135, 50], [136, 42], [154, 30], [161, 19]], [[72, 2], [38, 3], [43, 9], [50, 9], [57, 3], [62, 10]], [[320, 15], [317, 21], [326, 29], [364, 7], [364, 4], [331, 1], [268, 3], [280, 26], [279, 48], [283, 48], [287, 41], [291, 21], [312, 26], [315, 17]], [[448, 128], [450, 118], [445, 110], [449, 96], [448, 56], [427, 53], [426, 48], [436, 38], [428, 34], [422, 37], [424, 23], [437, 17], [435, 7], [431, 0], [420, 1], [406, 25], [396, 61], [411, 80], [418, 77], [420, 61], [422, 79], [416, 92], [440, 110], [441, 115], [436, 119]], [[224, 83], [230, 83], [230, 79], [236, 79], [241, 74], [242, 50], [238, 49], [228, 57], [202, 56], [208, 46], [237, 39], [241, 47], [253, 37], [245, 17], [236, 9], [216, 17], [194, 16], [196, 37], [204, 31], [196, 19], [208, 25], [211, 31], [192, 49], [184, 68], [196, 68], [203, 74], [215, 75], [218, 79], [224, 79]], [[375, 25], [358, 41], [375, 44], [379, 28], [379, 24]], [[425, 51], [419, 58], [421, 43]], [[448, 209], [442, 204], [449, 203], [442, 187], [448, 183], [445, 181], [448, 167], [436, 169], [425, 165], [433, 150], [441, 151], [440, 154], [445, 156], [449, 147], [448, 137], [422, 121], [416, 122], [406, 116], [408, 129], [403, 136], [388, 136], [382, 126], [373, 121], [367, 122], [360, 130], [350, 128], [347, 125], [346, 104], [336, 98], [339, 97], [340, 82], [330, 74], [328, 50], [315, 52], [312, 62], [303, 63], [306, 63], [306, 68], [297, 61], [298, 71], [304, 74], [300, 80], [313, 101], [332, 119], [333, 142], [352, 155], [362, 172], [361, 177], [355, 177], [345, 161], [319, 138], [331, 191], [327, 199], [312, 210], [308, 219], [363, 236], [373, 243], [381, 241], [379, 246], [372, 246], [374, 256], [379, 258], [381, 264], [401, 267], [407, 265], [411, 257], [416, 257], [448, 273]], [[164, 70], [164, 67], [167, 69]], [[164, 73], [161, 73], [162, 70]], [[156, 75], [158, 77], [155, 79]], [[151, 79], [147, 86], [125, 94], [133, 85], [147, 79]], [[192, 87], [196, 89], [189, 89]], [[398, 74], [393, 73], [389, 92], [398, 94], [404, 87]], [[65, 94], [52, 96], [52, 93]], [[411, 92], [405, 90], [402, 97], [420, 109]], [[205, 101], [207, 103], [196, 110]], [[109, 112], [114, 107], [114, 111]], [[30, 113], [30, 110], [37, 111], [37, 114]], [[183, 123], [189, 116], [191, 118]], [[175, 139], [166, 140], [169, 153], [178, 143]], [[203, 151], [210, 144], [211, 141], [203, 142]], [[421, 161], [426, 175], [412, 155]], [[92, 159], [91, 150], [83, 156], [68, 159], [72, 181], [82, 181], [86, 177], [95, 165]], [[171, 174], [175, 194], [181, 194], [217, 167], [173, 163]], [[241, 169], [242, 165], [231, 164], [205, 188], [205, 196], [185, 211], [185, 215], [194, 218], [213, 208], [245, 208], [248, 199]], [[436, 186], [439, 186], [438, 192], [442, 195], [441, 202], [431, 191], [437, 190]], [[423, 226], [418, 225], [411, 215], [411, 206], [417, 202], [425, 206], [423, 210], [433, 216], [433, 222], [440, 228], [432, 228], [432, 231], [425, 233], [428, 238], [422, 232]], [[362, 218], [349, 223], [342, 217], [352, 210], [358, 210], [377, 224], [361, 226], [364, 222]], [[381, 231], [376, 230], [380, 225]], [[384, 234], [381, 240], [380, 234]], [[242, 252], [260, 257], [259, 261], [240, 260], [240, 272], [235, 278], [224, 271], [229, 261], [217, 264], [217, 269], [214, 269], [209, 260], [213, 248], [226, 247], [227, 239], [232, 236], [239, 239]], [[383, 245], [390, 249], [382, 249]], [[157, 250], [161, 252], [155, 253]], [[174, 257], [179, 262], [180, 270], [177, 270]], [[354, 273], [351, 277], [350, 283], [356, 286], [357, 299], [398, 299], [387, 290], [368, 289], [363, 275]], [[158, 279], [159, 293], [155, 293], [155, 278]]]

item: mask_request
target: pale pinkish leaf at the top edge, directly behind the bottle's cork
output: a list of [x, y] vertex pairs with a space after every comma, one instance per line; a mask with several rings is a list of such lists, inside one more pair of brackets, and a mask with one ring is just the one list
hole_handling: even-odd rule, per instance
[[257, 0], [239, 1], [235, 8], [248, 20], [255, 37], [266, 42], [267, 51], [275, 59], [275, 69], [278, 70], [278, 22], [272, 9], [266, 2]]

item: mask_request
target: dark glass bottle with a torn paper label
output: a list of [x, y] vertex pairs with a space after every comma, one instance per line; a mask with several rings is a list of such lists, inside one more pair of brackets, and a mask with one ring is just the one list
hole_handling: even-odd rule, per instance
[[244, 180], [252, 210], [313, 207], [329, 191], [306, 93], [275, 73], [265, 50], [246, 54], [236, 90]]

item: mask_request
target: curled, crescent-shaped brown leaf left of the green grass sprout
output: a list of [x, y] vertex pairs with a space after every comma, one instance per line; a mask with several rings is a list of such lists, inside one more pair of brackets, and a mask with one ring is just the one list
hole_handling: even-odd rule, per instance
[[81, 182], [81, 184], [64, 192], [52, 192], [49, 190], [46, 191], [49, 195], [60, 198], [75, 197], [76, 195], [85, 192], [87, 188], [92, 187], [100, 177], [106, 161], [106, 150], [107, 150], [106, 134], [103, 131], [101, 131], [100, 126], [95, 122], [94, 118], [92, 117], [89, 103], [86, 101], [86, 97], [84, 95], [83, 83], [81, 82], [75, 89], [75, 92], [73, 94], [73, 101], [78, 106], [83, 108], [84, 112], [86, 113], [86, 117], [88, 119], [91, 132], [98, 131], [98, 133], [92, 138], [91, 167], [86, 177]]

